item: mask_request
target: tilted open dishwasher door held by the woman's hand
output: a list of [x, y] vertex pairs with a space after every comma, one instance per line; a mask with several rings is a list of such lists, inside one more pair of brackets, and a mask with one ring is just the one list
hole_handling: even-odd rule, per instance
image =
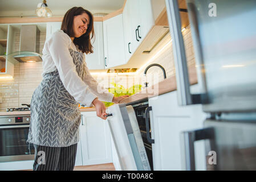
[[115, 104], [108, 107], [107, 113], [112, 114], [107, 120], [121, 170], [150, 171], [148, 156], [133, 107]]

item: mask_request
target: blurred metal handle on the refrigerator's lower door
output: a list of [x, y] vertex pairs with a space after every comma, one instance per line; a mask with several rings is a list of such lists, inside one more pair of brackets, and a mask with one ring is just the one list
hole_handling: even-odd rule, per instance
[[194, 142], [198, 140], [209, 139], [210, 141], [210, 150], [216, 151], [216, 143], [214, 142], [214, 128], [208, 127], [200, 130], [193, 131], [184, 131], [180, 134], [181, 137], [181, 146], [184, 150], [182, 150], [182, 155], [184, 156], [185, 169], [187, 171], [196, 170], [196, 162], [194, 158]]

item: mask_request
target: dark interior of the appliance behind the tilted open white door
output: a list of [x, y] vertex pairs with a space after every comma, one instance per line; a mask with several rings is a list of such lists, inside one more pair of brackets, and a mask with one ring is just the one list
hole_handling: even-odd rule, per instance
[[143, 143], [145, 146], [145, 150], [147, 152], [148, 160], [149, 160], [149, 165], [151, 167], [151, 170], [153, 171], [153, 155], [152, 155], [152, 142], [148, 141], [147, 138], [147, 123], [146, 123], [146, 117], [148, 119], [148, 127], [149, 127], [149, 137], [151, 138], [151, 127], [150, 127], [150, 121], [149, 121], [149, 116], [147, 116], [146, 109], [148, 107], [148, 100], [142, 100], [142, 101], [137, 101], [134, 103], [131, 103], [129, 105], [132, 105], [133, 109], [135, 110], [135, 114], [137, 117], [137, 121], [140, 127], [140, 133], [141, 137], [143, 139]]

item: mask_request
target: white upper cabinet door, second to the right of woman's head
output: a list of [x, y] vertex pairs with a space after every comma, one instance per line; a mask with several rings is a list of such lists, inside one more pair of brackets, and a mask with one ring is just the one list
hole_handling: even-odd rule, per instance
[[125, 64], [123, 15], [119, 14], [105, 20], [103, 34], [105, 68]]

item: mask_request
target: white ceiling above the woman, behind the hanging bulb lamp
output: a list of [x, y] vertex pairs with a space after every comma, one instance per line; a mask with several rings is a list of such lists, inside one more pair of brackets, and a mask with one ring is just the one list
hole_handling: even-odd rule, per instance
[[[35, 16], [35, 9], [42, 0], [0, 0], [0, 17]], [[91, 13], [112, 13], [121, 9], [124, 0], [47, 0], [52, 16], [63, 16], [74, 6], [82, 6]]]

